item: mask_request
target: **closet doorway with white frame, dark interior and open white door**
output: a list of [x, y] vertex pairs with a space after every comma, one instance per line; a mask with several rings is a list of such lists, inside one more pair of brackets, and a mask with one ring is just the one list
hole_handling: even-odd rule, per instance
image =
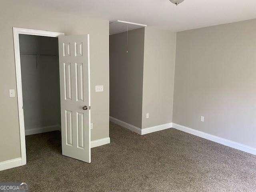
[[13, 28], [13, 38], [21, 148], [17, 166], [26, 164], [25, 134], [60, 127], [62, 155], [90, 163], [89, 34]]

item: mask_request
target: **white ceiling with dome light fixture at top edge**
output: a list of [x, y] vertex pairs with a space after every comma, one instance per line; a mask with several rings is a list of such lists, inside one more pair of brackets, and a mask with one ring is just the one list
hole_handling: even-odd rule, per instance
[[183, 31], [256, 18], [256, 0], [20, 0], [109, 21], [123, 20], [171, 31]]

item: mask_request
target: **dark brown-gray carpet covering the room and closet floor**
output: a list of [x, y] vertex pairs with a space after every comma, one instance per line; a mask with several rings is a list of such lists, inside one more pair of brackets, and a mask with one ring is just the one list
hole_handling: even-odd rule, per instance
[[35, 192], [256, 191], [254, 155], [174, 129], [140, 136], [110, 124], [110, 139], [87, 164], [62, 156], [60, 132], [26, 136], [27, 164], [0, 181]]

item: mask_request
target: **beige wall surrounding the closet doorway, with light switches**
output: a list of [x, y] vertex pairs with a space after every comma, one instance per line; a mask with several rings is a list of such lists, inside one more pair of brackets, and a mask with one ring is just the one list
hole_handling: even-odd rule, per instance
[[[20, 157], [20, 134], [17, 97], [9, 98], [8, 90], [16, 90], [12, 27], [90, 34], [92, 140], [109, 136], [109, 22], [89, 19], [86, 15], [65, 14], [24, 6], [19, 1], [1, 2], [0, 12], [0, 162]], [[95, 92], [104, 85], [104, 92]], [[17, 93], [17, 92], [16, 92]]]

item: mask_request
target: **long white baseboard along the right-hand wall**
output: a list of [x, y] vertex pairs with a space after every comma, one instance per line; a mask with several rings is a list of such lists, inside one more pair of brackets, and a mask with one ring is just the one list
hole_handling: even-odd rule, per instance
[[244, 145], [244, 144], [241, 144], [238, 142], [230, 141], [230, 140], [227, 140], [227, 139], [224, 139], [224, 138], [221, 138], [218, 136], [214, 136], [214, 135], [211, 135], [211, 134], [208, 134], [205, 132], [194, 130], [192, 128], [185, 127], [185, 126], [182, 126], [182, 125], [179, 125], [176, 123], [172, 123], [172, 128], [190, 133], [192, 135], [196, 135], [198, 137], [201, 137], [201, 138], [204, 138], [207, 140], [214, 141], [216, 143], [219, 143], [219, 144], [231, 147], [231, 148], [235, 148], [235, 149], [256, 155], [256, 148], [252, 148], [250, 146], [247, 146], [247, 145]]

